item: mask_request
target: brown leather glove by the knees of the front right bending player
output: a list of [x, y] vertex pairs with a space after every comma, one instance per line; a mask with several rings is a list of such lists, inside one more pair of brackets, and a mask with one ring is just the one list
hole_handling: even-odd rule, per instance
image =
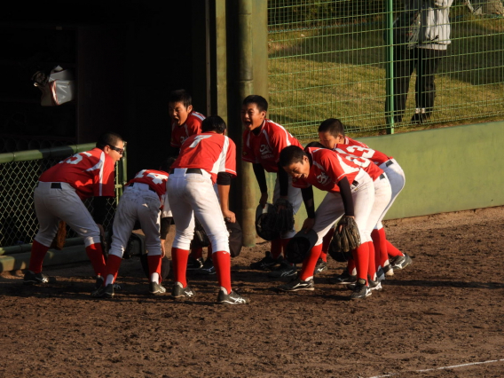
[[[343, 225], [340, 232], [340, 226]], [[346, 262], [351, 258], [351, 251], [360, 246], [360, 234], [353, 217], [343, 216], [336, 226], [336, 231], [329, 245], [329, 255], [336, 261]]]

